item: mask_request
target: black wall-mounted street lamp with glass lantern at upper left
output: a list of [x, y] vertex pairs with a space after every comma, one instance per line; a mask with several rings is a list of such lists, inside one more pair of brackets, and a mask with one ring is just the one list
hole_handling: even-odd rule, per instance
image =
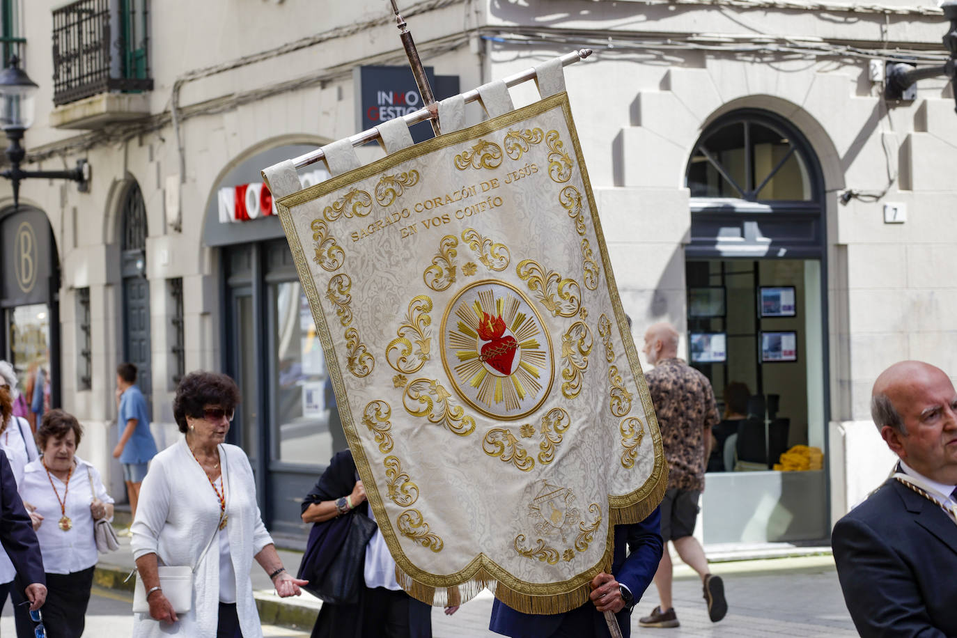
[[[957, 1], [957, 0], [955, 0]], [[69, 170], [22, 170], [20, 163], [27, 151], [20, 145], [24, 132], [33, 124], [36, 89], [39, 88], [19, 66], [16, 55], [10, 58], [10, 66], [0, 71], [0, 128], [7, 134], [10, 146], [7, 147], [7, 159], [10, 168], [0, 172], [13, 186], [13, 209], [17, 209], [20, 200], [20, 182], [32, 178], [72, 180], [79, 183], [79, 190], [89, 188], [90, 165], [86, 160], [77, 160], [77, 167]]]

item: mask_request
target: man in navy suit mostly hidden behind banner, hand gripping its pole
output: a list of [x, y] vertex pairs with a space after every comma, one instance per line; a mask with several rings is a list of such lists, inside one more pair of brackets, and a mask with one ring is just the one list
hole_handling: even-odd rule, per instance
[[521, 613], [496, 599], [488, 628], [512, 638], [605, 638], [611, 635], [603, 613], [609, 609], [629, 638], [632, 608], [655, 578], [661, 547], [661, 513], [656, 508], [640, 523], [615, 526], [612, 574], [591, 581], [589, 603], [564, 614], [539, 615]]

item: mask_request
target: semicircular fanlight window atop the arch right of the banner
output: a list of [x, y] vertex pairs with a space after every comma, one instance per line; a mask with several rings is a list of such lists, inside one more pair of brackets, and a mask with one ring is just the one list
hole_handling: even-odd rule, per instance
[[701, 135], [688, 164], [692, 197], [809, 202], [809, 151], [787, 124], [757, 113], [723, 118]]

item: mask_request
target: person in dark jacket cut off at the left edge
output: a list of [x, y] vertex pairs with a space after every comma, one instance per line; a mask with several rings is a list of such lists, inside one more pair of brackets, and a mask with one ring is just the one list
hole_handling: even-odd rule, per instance
[[30, 610], [39, 609], [47, 599], [47, 579], [43, 572], [43, 557], [36, 542], [33, 524], [23, 499], [16, 491], [16, 479], [7, 459], [0, 450], [0, 544], [16, 569], [16, 586], [24, 587], [30, 601]]

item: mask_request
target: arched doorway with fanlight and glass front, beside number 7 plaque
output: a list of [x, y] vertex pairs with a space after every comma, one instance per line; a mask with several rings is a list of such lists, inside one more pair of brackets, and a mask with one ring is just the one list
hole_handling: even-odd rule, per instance
[[[746, 418], [714, 429], [704, 540], [825, 539], [827, 473], [817, 453], [827, 451], [828, 418], [820, 164], [789, 121], [746, 109], [703, 131], [685, 180], [689, 363], [710, 379], [722, 407], [740, 403], [731, 384], [746, 385], [749, 397], [728, 410]], [[806, 446], [806, 466], [782, 464], [794, 446]]]

